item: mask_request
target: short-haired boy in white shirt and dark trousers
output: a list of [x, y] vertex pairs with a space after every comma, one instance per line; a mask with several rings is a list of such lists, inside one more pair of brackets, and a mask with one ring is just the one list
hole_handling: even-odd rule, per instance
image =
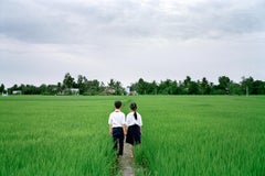
[[[109, 114], [109, 134], [113, 136], [114, 150], [118, 148], [118, 155], [123, 156], [124, 153], [124, 139], [126, 135], [125, 129], [125, 113], [120, 111], [121, 101], [115, 101], [115, 111]], [[118, 147], [119, 144], [119, 147]]]

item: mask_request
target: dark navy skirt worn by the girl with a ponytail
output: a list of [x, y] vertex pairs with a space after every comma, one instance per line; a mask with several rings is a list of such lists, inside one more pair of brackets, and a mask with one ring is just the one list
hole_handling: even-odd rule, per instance
[[137, 124], [130, 125], [126, 135], [126, 143], [131, 145], [141, 143], [140, 127]]

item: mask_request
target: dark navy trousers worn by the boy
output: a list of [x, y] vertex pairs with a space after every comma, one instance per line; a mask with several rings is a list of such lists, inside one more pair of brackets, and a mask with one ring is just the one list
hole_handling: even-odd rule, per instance
[[[113, 128], [114, 150], [118, 148], [118, 155], [124, 154], [124, 130], [123, 128]], [[118, 146], [119, 144], [119, 146]]]

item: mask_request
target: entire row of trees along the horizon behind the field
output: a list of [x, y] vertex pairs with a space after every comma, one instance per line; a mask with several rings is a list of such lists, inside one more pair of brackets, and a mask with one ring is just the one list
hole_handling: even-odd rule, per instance
[[85, 76], [78, 75], [75, 80], [70, 73], [65, 74], [62, 82], [57, 85], [13, 85], [4, 88], [1, 84], [2, 94], [21, 95], [265, 95], [265, 81], [255, 80], [253, 77], [242, 77], [241, 82], [234, 82], [227, 76], [220, 76], [219, 82], [214, 85], [205, 77], [201, 80], [192, 80], [187, 76], [184, 80], [166, 79], [160, 82], [146, 81], [139, 78], [138, 81], [128, 87], [123, 87], [118, 80], [110, 79], [107, 85], [97, 79], [88, 80]]

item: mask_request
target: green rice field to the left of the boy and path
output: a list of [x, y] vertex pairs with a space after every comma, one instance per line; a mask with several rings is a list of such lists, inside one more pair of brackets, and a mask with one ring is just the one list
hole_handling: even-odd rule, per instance
[[0, 101], [0, 175], [112, 174], [106, 107], [113, 100], [6, 98]]

